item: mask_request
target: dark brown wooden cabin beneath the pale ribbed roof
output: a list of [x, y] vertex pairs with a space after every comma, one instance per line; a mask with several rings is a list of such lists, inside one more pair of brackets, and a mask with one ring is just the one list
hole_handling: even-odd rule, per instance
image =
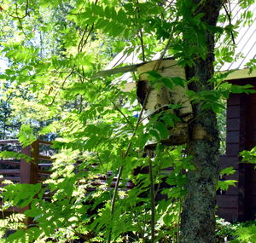
[[[233, 77], [236, 78], [236, 77]], [[256, 78], [229, 80], [232, 84], [253, 84]], [[233, 166], [236, 173], [223, 179], [236, 180], [237, 187], [217, 195], [218, 216], [228, 221], [253, 220], [256, 215], [256, 170], [241, 163], [239, 153], [256, 146], [256, 94], [231, 94], [227, 101], [226, 153], [220, 156], [221, 168]]]

